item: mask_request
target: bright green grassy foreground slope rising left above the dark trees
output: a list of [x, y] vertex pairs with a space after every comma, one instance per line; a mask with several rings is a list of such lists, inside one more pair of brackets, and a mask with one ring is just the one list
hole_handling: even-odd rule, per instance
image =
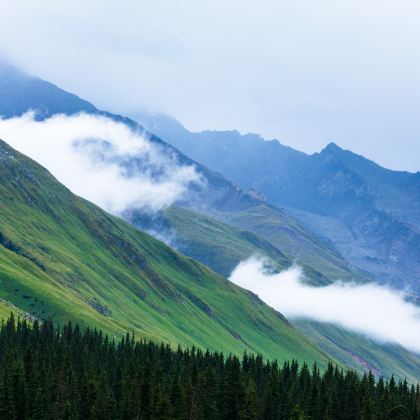
[[82, 200], [0, 142], [0, 298], [120, 335], [266, 357], [327, 356], [256, 296]]

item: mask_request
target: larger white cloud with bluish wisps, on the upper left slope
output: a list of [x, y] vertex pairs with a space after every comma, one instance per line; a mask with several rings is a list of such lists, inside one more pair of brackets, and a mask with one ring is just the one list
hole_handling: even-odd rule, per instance
[[[201, 182], [193, 166], [144, 133], [109, 118], [34, 113], [0, 120], [0, 138], [46, 167], [75, 194], [118, 214], [127, 208], [157, 211]], [[128, 166], [127, 163], [130, 163]]]

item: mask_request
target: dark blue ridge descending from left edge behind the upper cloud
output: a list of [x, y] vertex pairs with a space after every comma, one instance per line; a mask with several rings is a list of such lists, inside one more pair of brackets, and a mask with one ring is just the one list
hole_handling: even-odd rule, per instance
[[[57, 113], [87, 112], [103, 115], [123, 122], [135, 130], [144, 131], [144, 128], [132, 119], [98, 110], [89, 102], [13, 67], [0, 65], [0, 75], [0, 114], [3, 113], [4, 117], [19, 116], [28, 110], [35, 110], [39, 119]], [[312, 267], [331, 280], [367, 278], [295, 217], [266, 202], [256, 191], [240, 189], [220, 173], [191, 160], [151, 132], [147, 132], [146, 135], [152, 142], [158, 143], [162, 151], [175, 156], [179, 163], [194, 165], [205, 180], [203, 185], [193, 186], [188, 197], [177, 203], [178, 207], [203, 213], [241, 230], [247, 230], [261, 240], [271, 242], [281, 253], [302, 265]], [[131, 173], [144, 171], [141, 159], [131, 159], [128, 167]], [[128, 210], [125, 215], [129, 222], [142, 219], [143, 215], [139, 215], [136, 209]], [[184, 216], [182, 213], [178, 218]], [[188, 223], [188, 220], [184, 222]], [[137, 227], [144, 226], [137, 224]], [[185, 239], [193, 240], [192, 237]]]

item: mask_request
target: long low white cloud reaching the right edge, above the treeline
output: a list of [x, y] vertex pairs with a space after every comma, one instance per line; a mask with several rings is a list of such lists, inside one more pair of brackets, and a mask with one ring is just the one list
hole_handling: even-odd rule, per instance
[[230, 280], [286, 317], [334, 323], [420, 353], [420, 308], [407, 302], [404, 293], [375, 284], [313, 287], [302, 282], [298, 267], [274, 273], [267, 264], [255, 257], [243, 261]]

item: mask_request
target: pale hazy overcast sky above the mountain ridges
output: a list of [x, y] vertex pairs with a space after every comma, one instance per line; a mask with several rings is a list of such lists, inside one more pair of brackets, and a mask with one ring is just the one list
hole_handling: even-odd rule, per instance
[[418, 0], [0, 0], [0, 53], [119, 112], [420, 170]]

